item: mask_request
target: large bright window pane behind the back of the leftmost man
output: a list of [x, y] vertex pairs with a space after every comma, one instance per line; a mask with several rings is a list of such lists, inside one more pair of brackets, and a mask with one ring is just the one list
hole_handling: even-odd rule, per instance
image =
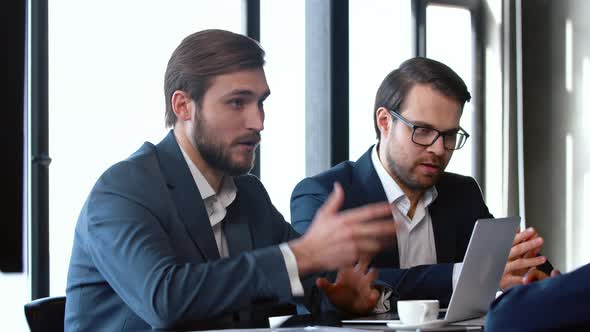
[[78, 213], [97, 177], [164, 127], [164, 71], [181, 39], [243, 32], [240, 0], [49, 3], [51, 295], [65, 293]]

